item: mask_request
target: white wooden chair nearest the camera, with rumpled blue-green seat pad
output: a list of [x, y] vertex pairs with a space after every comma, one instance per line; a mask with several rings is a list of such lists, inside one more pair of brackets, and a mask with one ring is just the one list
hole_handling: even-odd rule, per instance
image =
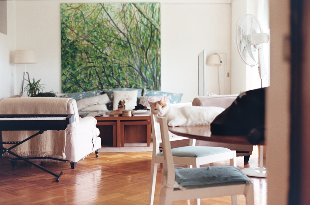
[[160, 124], [164, 146], [163, 178], [159, 204], [168, 205], [172, 201], [232, 196], [232, 204], [237, 204], [237, 195], [246, 197], [247, 205], [254, 205], [253, 184], [237, 167], [213, 166], [202, 168], [175, 168], [168, 125], [165, 117], [155, 116]]

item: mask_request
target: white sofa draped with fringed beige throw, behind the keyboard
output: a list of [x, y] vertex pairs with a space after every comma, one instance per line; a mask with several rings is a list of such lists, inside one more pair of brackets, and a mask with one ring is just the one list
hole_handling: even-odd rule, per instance
[[[93, 152], [98, 157], [98, 149], [101, 148], [101, 138], [99, 137], [99, 129], [96, 128], [97, 120], [94, 117], [80, 119], [77, 103], [72, 98], [6, 98], [0, 101], [0, 114], [74, 114], [74, 122], [68, 126], [62, 136], [59, 136], [60, 140], [51, 142], [51, 145], [47, 147], [47, 150], [51, 150], [50, 153], [45, 153], [45, 150], [39, 150], [37, 147], [41, 145], [46, 146], [46, 143], [49, 142], [49, 137], [53, 138], [55, 135], [59, 135], [58, 132], [61, 132], [61, 130], [47, 130], [40, 137], [33, 137], [31, 140], [24, 142], [25, 145], [17, 146], [16, 154], [26, 158], [37, 157], [41, 161], [54, 158], [61, 161], [69, 161], [71, 168], [76, 168], [79, 160]], [[29, 134], [35, 131], [2, 131], [3, 142], [15, 141], [11, 132], [19, 133], [16, 136], [14, 134], [14, 137], [25, 138], [25, 132]], [[26, 143], [29, 143], [29, 145]], [[35, 147], [33, 144], [35, 144]], [[28, 149], [28, 152], [23, 150], [24, 146], [26, 146], [25, 150]], [[59, 150], [59, 153], [54, 153], [53, 150]], [[12, 157], [8, 153], [3, 155]]]

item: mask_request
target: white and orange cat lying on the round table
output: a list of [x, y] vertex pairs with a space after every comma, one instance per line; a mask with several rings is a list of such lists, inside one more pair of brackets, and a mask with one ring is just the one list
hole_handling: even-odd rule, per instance
[[173, 107], [165, 97], [157, 102], [148, 102], [154, 115], [167, 118], [168, 126], [201, 126], [210, 125], [216, 116], [224, 111], [222, 107], [185, 106]]

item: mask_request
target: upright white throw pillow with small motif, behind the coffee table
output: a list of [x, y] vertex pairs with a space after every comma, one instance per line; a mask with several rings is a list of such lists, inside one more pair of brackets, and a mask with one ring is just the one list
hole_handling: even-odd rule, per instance
[[133, 110], [137, 106], [138, 90], [113, 90], [113, 96], [113, 110], [117, 110], [120, 100], [125, 100], [126, 110]]

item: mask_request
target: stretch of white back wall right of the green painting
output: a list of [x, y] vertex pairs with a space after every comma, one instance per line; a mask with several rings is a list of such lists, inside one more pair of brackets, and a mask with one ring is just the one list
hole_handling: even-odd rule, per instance
[[[204, 49], [207, 56], [229, 54], [230, 4], [162, 4], [161, 9], [162, 90], [192, 101], [198, 95], [198, 54]], [[210, 70], [215, 72], [206, 72], [206, 89], [218, 94], [217, 68], [206, 66]]]

